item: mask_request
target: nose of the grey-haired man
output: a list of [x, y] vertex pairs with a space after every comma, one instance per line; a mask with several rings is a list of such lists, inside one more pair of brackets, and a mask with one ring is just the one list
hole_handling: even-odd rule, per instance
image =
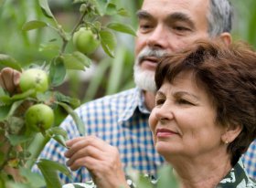
[[153, 48], [165, 49], [168, 47], [168, 31], [165, 26], [156, 26], [147, 39], [147, 45]]

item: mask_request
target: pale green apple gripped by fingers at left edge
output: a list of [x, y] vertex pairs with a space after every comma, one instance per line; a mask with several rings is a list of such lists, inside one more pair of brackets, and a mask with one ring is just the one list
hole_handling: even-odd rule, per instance
[[48, 90], [48, 74], [39, 68], [29, 68], [21, 74], [19, 87], [22, 92], [29, 89], [35, 89], [36, 93], [45, 92]]

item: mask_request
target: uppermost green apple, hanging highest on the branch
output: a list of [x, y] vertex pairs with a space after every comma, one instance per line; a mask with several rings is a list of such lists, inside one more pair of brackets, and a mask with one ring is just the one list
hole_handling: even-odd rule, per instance
[[80, 27], [80, 29], [74, 33], [73, 44], [81, 53], [90, 55], [100, 46], [101, 42], [97, 36], [92, 33], [91, 29]]

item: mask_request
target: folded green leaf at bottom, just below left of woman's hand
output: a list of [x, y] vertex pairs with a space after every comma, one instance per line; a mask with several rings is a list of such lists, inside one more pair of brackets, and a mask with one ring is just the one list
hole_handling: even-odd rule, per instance
[[64, 173], [70, 178], [69, 169], [59, 162], [53, 162], [46, 159], [41, 159], [37, 162], [37, 166], [42, 172], [48, 188], [61, 188], [59, 180], [59, 172]]

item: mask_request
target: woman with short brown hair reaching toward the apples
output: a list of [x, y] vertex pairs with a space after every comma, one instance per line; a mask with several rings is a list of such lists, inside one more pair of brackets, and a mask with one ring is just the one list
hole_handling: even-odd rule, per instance
[[[240, 161], [256, 138], [255, 52], [243, 44], [201, 40], [165, 57], [155, 82], [149, 124], [155, 148], [174, 168], [180, 187], [256, 187]], [[68, 142], [71, 169], [86, 166], [98, 187], [125, 185], [118, 151], [90, 139]]]

